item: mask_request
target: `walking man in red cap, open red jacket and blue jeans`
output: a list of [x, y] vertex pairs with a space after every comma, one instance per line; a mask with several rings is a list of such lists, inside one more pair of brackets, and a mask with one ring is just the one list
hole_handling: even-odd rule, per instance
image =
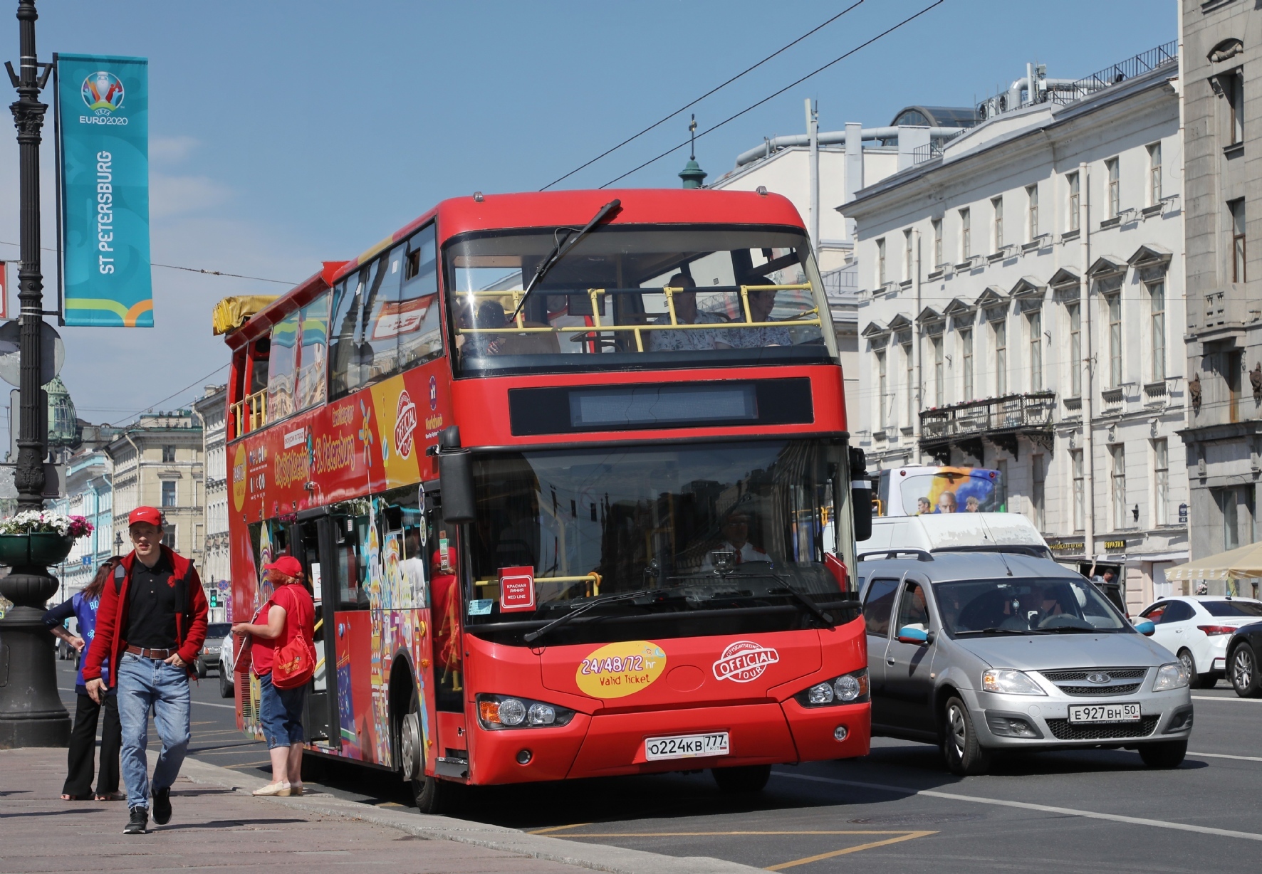
[[127, 784], [125, 835], [149, 826], [149, 710], [162, 737], [154, 768], [154, 822], [170, 821], [170, 787], [188, 752], [193, 661], [206, 639], [206, 594], [193, 562], [162, 545], [162, 513], [138, 507], [127, 517], [133, 551], [106, 584], [96, 613], [96, 637], [83, 662], [83, 682], [95, 701], [105, 696], [101, 663], [119, 689], [122, 779]]

